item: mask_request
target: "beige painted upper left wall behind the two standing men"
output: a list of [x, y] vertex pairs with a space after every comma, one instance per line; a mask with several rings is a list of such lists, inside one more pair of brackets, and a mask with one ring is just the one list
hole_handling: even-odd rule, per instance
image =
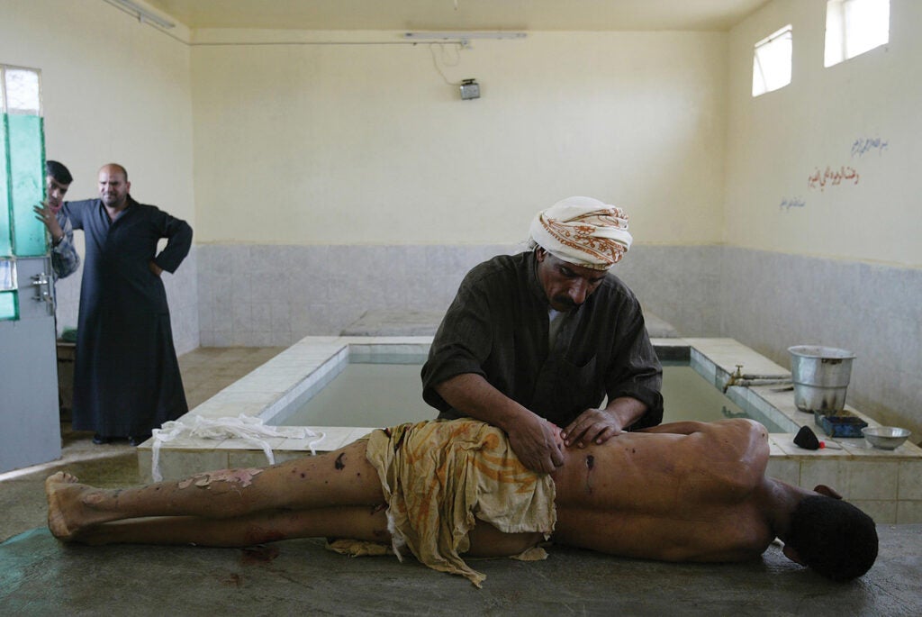
[[74, 174], [68, 198], [97, 196], [116, 161], [132, 196], [195, 227], [184, 42], [101, 0], [4, 0], [0, 62], [41, 69], [45, 149]]

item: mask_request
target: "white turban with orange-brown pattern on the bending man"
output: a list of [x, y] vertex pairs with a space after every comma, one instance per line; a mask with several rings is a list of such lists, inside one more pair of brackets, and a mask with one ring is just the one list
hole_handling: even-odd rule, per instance
[[592, 197], [567, 197], [538, 212], [531, 240], [575, 266], [607, 270], [631, 248], [628, 215]]

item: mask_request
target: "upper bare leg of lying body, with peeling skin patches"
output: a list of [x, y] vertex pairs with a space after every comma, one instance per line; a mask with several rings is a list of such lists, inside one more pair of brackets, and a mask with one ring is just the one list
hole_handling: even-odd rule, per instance
[[48, 527], [68, 540], [82, 528], [125, 518], [195, 516], [233, 518], [263, 511], [310, 510], [384, 503], [365, 442], [262, 469], [222, 469], [178, 482], [124, 489], [94, 489], [69, 474], [45, 481]]

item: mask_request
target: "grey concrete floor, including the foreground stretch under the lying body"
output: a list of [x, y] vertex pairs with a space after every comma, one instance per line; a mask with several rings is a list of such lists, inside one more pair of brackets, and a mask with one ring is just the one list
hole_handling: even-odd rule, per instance
[[[279, 349], [180, 358], [191, 407]], [[659, 564], [550, 548], [544, 562], [479, 561], [482, 589], [394, 557], [349, 559], [323, 540], [249, 550], [60, 544], [44, 527], [42, 481], [68, 469], [97, 486], [137, 484], [134, 448], [64, 432], [61, 461], [0, 475], [0, 612], [17, 615], [922, 614], [922, 525], [881, 525], [881, 555], [833, 584], [772, 546], [748, 564]]]

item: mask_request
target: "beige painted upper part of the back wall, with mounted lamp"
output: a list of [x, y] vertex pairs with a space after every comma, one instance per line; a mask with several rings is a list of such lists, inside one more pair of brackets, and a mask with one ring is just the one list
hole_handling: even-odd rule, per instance
[[539, 208], [589, 195], [628, 208], [638, 243], [719, 243], [726, 42], [196, 32], [196, 241], [514, 243]]

